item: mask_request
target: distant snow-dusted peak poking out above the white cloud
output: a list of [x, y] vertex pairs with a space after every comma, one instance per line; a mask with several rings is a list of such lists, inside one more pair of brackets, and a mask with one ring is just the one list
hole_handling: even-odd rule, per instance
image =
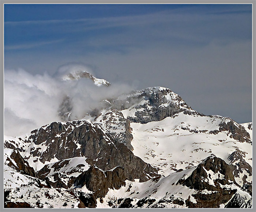
[[72, 73], [69, 73], [67, 75], [64, 75], [62, 77], [62, 79], [64, 81], [70, 81], [70, 80], [79, 80], [81, 78], [87, 78], [87, 79], [91, 79], [95, 85], [97, 86], [109, 86], [110, 82], [106, 81], [105, 79], [98, 79], [96, 77], [94, 77], [93, 75], [91, 75], [89, 72], [87, 71], [75, 71]]

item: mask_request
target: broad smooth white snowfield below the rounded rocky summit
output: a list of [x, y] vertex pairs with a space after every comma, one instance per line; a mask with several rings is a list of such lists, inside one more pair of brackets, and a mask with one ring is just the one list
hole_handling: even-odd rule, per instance
[[252, 165], [252, 145], [230, 138], [229, 131], [219, 130], [221, 117], [188, 116], [183, 113], [144, 125], [131, 123], [133, 153], [159, 168], [166, 176], [179, 169], [198, 165], [214, 154], [227, 161], [237, 149], [247, 152], [246, 162]]

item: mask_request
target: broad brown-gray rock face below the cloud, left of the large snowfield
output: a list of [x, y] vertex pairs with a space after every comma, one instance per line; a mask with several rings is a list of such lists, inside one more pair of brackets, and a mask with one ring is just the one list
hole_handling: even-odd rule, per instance
[[31, 148], [30, 154], [39, 156], [41, 162], [50, 161], [54, 156], [59, 159], [72, 157], [87, 157], [102, 170], [110, 170], [116, 166], [125, 168], [125, 177], [129, 180], [139, 178], [140, 181], [157, 175], [157, 170], [134, 156], [124, 144], [106, 136], [103, 131], [91, 122], [74, 121], [62, 123], [53, 122], [41, 127], [31, 134], [29, 140], [34, 144], [45, 144], [47, 149], [40, 152]]

